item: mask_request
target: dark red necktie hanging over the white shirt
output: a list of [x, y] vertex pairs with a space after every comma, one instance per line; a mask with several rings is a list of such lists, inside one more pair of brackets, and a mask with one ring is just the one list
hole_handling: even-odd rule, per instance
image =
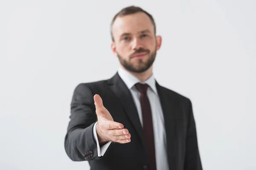
[[149, 170], [156, 170], [156, 158], [154, 149], [154, 131], [150, 103], [147, 96], [147, 84], [137, 83], [135, 87], [140, 91], [140, 105], [143, 116], [143, 130], [146, 142], [146, 149], [149, 158]]

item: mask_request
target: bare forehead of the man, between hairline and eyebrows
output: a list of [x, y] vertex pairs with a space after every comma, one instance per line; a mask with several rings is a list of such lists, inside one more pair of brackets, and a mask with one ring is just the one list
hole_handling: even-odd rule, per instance
[[154, 26], [146, 14], [135, 13], [117, 17], [112, 29], [113, 33], [121, 35], [123, 33], [139, 33], [144, 30], [154, 31]]

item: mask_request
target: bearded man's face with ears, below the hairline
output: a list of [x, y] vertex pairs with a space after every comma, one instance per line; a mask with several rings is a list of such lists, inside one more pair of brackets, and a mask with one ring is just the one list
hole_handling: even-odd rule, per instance
[[152, 66], [161, 37], [155, 36], [153, 23], [146, 14], [138, 12], [117, 17], [112, 34], [112, 51], [124, 68], [141, 73]]

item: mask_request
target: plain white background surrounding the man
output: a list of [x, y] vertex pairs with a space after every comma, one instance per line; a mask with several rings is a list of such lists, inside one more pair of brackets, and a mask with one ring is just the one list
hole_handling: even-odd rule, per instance
[[163, 37], [157, 81], [192, 100], [204, 169], [256, 170], [255, 0], [1, 1], [1, 170], [89, 170], [64, 150], [71, 97], [116, 73], [110, 23], [130, 5]]

